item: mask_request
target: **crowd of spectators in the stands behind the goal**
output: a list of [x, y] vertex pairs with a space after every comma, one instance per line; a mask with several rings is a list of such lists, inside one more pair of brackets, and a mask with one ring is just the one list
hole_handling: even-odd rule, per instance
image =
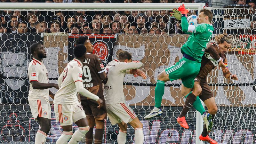
[[[248, 4], [255, 8], [254, 0], [0, 0], [1, 2], [46, 2], [46, 3], [206, 3], [210, 7], [226, 4]], [[210, 1], [210, 0], [209, 0]], [[171, 11], [1, 11], [0, 32], [2, 33], [74, 33], [74, 34], [180, 34], [178, 20], [170, 17]], [[188, 15], [197, 14], [190, 11]], [[255, 29], [255, 9], [251, 29]], [[254, 30], [253, 30], [254, 31]]]

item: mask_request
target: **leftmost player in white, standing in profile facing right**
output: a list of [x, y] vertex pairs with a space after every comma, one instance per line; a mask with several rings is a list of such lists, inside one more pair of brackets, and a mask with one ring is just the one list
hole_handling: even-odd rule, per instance
[[28, 65], [28, 78], [30, 82], [28, 102], [33, 117], [39, 122], [40, 128], [36, 132], [35, 144], [44, 144], [47, 134], [51, 129], [51, 107], [49, 95], [54, 94], [49, 88], [59, 89], [58, 84], [48, 83], [48, 71], [44, 66], [43, 59], [46, 58], [44, 46], [34, 43], [30, 46], [33, 60]]

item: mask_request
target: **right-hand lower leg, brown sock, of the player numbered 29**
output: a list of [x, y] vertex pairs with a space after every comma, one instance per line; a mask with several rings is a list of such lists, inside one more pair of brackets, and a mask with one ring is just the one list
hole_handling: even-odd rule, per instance
[[94, 144], [101, 144], [103, 133], [104, 133], [104, 119], [95, 120], [95, 123], [96, 123], [96, 131], [94, 135]]

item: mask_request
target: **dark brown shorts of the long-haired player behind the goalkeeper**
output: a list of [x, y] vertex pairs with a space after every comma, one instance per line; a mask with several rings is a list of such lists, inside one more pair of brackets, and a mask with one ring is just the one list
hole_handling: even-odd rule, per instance
[[211, 91], [209, 84], [207, 84], [206, 82], [206, 78], [200, 78], [200, 77], [196, 77], [195, 78], [195, 82], [199, 82], [201, 88], [202, 88], [202, 92], [199, 94], [199, 98], [201, 100], [208, 100], [213, 96], [213, 92]]

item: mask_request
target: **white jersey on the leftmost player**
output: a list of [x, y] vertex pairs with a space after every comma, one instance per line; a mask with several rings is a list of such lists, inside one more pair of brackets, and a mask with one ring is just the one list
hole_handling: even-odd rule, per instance
[[32, 81], [48, 84], [48, 71], [42, 61], [33, 58], [28, 65], [28, 78], [30, 82], [28, 100], [46, 99], [49, 101], [49, 89], [33, 89], [31, 84]]

